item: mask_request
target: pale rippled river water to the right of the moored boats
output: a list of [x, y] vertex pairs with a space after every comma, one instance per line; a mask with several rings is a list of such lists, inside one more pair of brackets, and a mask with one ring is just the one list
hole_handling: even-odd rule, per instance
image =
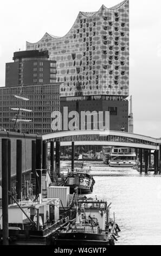
[[[75, 162], [75, 167], [80, 162]], [[70, 162], [62, 162], [69, 168]], [[131, 168], [107, 167], [102, 162], [84, 162], [91, 166], [95, 185], [93, 193], [111, 205], [111, 217], [121, 232], [116, 245], [161, 245], [161, 176], [142, 174]]]

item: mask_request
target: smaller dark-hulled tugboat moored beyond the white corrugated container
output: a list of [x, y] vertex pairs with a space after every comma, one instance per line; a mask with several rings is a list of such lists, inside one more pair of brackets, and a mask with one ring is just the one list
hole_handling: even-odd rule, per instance
[[78, 194], [90, 194], [93, 192], [95, 180], [90, 174], [90, 170], [76, 169], [74, 172], [69, 172], [64, 186], [70, 187], [70, 194], [78, 188]]

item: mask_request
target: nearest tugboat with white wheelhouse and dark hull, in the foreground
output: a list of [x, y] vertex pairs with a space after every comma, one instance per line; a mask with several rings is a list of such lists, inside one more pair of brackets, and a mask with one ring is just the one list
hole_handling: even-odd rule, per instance
[[110, 205], [102, 200], [78, 200], [75, 221], [55, 236], [55, 245], [114, 245], [120, 229], [110, 218]]

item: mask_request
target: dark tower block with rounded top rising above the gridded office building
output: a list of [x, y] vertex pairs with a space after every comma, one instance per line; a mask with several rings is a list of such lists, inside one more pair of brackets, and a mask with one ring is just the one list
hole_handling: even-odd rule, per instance
[[5, 86], [56, 82], [56, 61], [49, 60], [47, 50], [14, 52], [14, 62], [6, 63]]

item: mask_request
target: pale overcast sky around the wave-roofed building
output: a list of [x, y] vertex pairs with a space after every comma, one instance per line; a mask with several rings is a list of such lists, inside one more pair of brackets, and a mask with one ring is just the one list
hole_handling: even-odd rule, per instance
[[[5, 63], [48, 32], [67, 34], [79, 11], [98, 11], [121, 0], [5, 0], [1, 3], [0, 86]], [[161, 137], [161, 1], [130, 0], [130, 95], [134, 133]]]

